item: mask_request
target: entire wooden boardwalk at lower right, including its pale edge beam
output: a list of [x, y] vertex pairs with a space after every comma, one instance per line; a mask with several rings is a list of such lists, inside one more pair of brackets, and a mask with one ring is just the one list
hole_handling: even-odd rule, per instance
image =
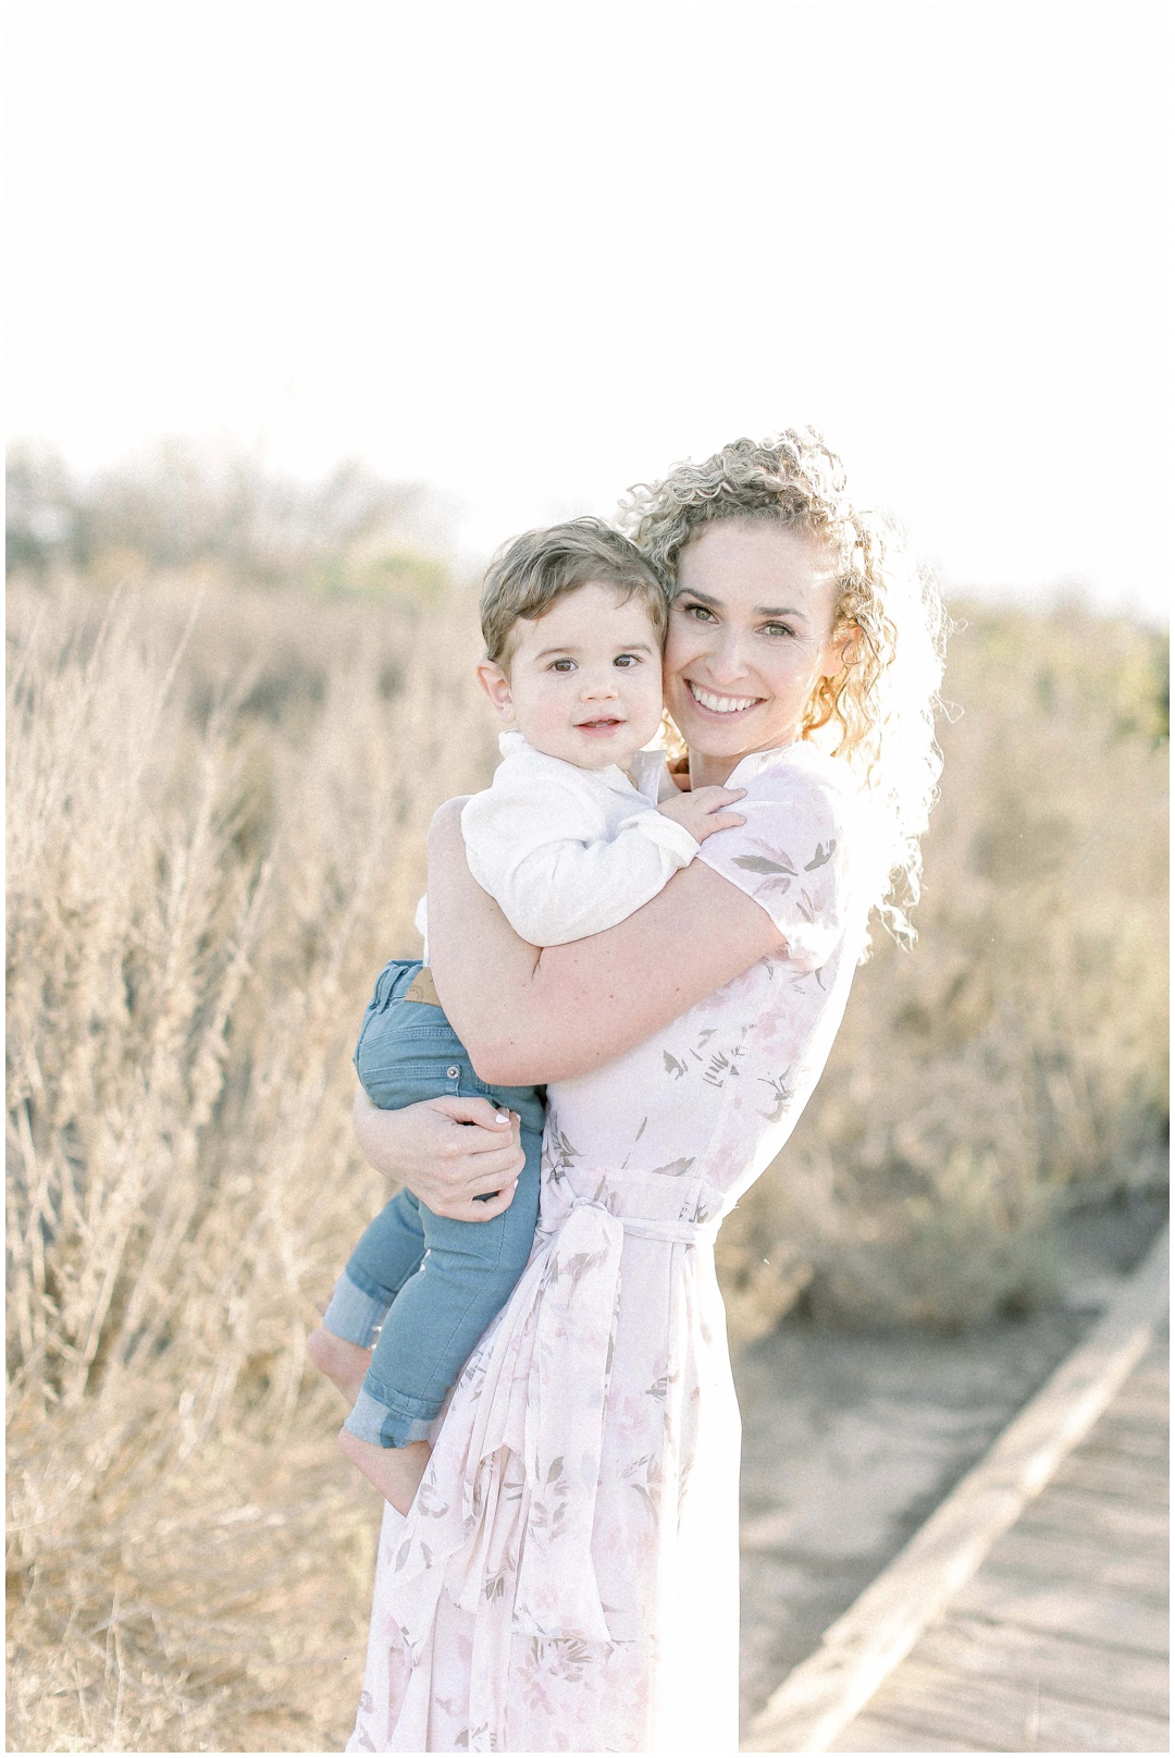
[[743, 1751], [1168, 1751], [1168, 1241]]

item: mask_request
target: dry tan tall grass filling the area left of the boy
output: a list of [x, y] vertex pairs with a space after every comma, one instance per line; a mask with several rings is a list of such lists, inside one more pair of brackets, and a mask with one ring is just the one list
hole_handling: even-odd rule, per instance
[[14, 622], [12, 1739], [339, 1746], [374, 1524], [302, 1345], [379, 1201], [357, 1016], [490, 772], [467, 607]]

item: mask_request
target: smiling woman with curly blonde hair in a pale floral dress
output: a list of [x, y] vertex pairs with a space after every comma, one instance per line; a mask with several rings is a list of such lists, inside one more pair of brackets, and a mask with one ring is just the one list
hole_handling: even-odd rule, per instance
[[[537, 953], [469, 877], [455, 810], [434, 821], [437, 990], [487, 1081], [548, 1085], [543, 1206], [409, 1515], [385, 1515], [353, 1751], [738, 1746], [713, 1238], [815, 1086], [869, 909], [906, 926], [941, 614], [810, 431], [674, 469], [632, 524], [673, 596], [688, 784], [745, 788], [745, 825], [625, 923]], [[444, 1104], [360, 1108], [360, 1139], [430, 1208], [494, 1213], [516, 1143]]]

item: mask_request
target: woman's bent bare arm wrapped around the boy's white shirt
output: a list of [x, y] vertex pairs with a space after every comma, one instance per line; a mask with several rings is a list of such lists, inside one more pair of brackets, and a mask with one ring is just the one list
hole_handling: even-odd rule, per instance
[[692, 861], [627, 921], [539, 951], [472, 879], [460, 802], [443, 805], [429, 832], [429, 960], [485, 1081], [518, 1086], [587, 1074], [782, 941], [759, 904]]

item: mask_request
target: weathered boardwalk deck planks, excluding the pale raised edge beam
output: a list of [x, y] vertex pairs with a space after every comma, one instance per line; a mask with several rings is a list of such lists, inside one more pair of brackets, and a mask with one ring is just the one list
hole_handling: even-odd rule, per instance
[[829, 1751], [1168, 1751], [1166, 1336]]

